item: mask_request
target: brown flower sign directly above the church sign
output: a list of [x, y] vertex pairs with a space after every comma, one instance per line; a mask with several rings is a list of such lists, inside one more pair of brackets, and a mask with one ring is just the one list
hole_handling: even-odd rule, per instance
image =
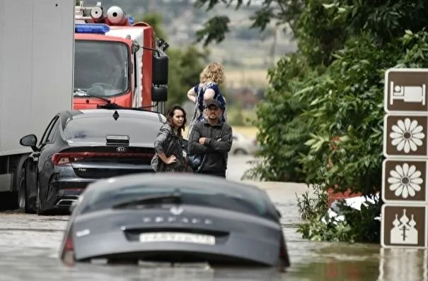
[[427, 166], [425, 160], [383, 160], [383, 202], [428, 204]]

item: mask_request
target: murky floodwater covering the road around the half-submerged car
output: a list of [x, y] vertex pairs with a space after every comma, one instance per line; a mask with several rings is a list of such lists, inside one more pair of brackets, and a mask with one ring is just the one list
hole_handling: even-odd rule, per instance
[[[239, 180], [250, 157], [230, 157], [228, 178]], [[406, 280], [427, 281], [427, 251], [383, 250], [378, 245], [317, 243], [296, 233], [296, 193], [301, 184], [259, 183], [277, 203], [291, 258], [287, 273], [212, 269], [206, 265], [78, 265], [58, 260], [68, 216], [0, 213], [0, 281], [15, 280]]]

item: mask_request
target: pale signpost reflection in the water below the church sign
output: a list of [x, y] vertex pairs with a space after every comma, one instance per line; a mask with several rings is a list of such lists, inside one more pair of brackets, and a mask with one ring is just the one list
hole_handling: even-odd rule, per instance
[[428, 281], [428, 250], [381, 249], [378, 281]]

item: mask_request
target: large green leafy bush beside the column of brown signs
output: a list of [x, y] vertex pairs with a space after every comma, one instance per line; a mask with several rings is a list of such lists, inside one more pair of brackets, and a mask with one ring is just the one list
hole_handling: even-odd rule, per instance
[[[265, 163], [251, 172], [260, 179], [318, 186], [315, 201], [311, 202], [308, 194], [299, 198], [301, 216], [308, 220], [299, 229], [303, 237], [378, 242], [380, 225], [374, 217], [379, 215], [382, 202], [363, 206], [361, 211], [342, 206], [343, 222], [324, 223], [323, 198], [333, 186], [337, 191], [351, 189], [364, 195], [381, 191], [384, 73], [391, 67], [427, 67], [428, 33], [403, 30], [396, 18], [389, 24], [393, 36], [378, 29], [357, 29], [364, 16], [352, 18], [347, 14], [349, 7], [325, 8], [333, 9], [328, 13], [331, 20], [348, 24], [346, 33], [340, 32], [346, 36], [335, 44], [341, 46], [330, 53], [330, 61], [325, 48], [313, 48], [311, 54], [306, 46], [302, 48], [306, 54], [286, 56], [270, 70], [270, 89], [258, 106], [256, 122], [260, 157]], [[318, 7], [315, 11], [314, 18], [320, 15]], [[303, 16], [305, 13], [308, 10]], [[301, 44], [316, 42], [308, 40], [308, 33], [305, 36]], [[316, 66], [311, 55], [324, 59]]]

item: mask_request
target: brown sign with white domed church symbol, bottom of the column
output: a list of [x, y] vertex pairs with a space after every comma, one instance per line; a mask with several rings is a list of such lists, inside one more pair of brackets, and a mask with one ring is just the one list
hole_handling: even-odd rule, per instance
[[383, 204], [381, 245], [385, 248], [428, 248], [427, 205]]

